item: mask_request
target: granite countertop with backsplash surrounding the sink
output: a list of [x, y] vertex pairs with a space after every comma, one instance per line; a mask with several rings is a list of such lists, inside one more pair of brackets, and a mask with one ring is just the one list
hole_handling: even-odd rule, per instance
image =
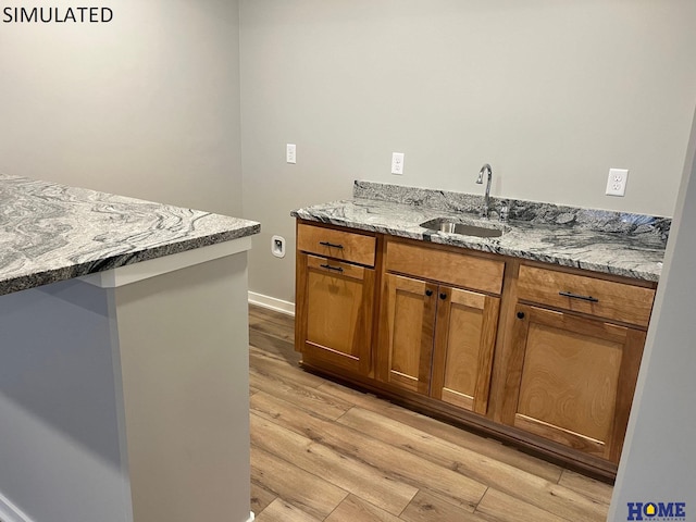
[[[671, 220], [594, 209], [508, 200], [501, 237], [433, 232], [420, 226], [449, 217], [481, 222], [481, 196], [356, 182], [353, 199], [294, 210], [302, 220], [452, 245], [485, 252], [657, 282]], [[485, 226], [501, 226], [501, 199], [490, 199]]]

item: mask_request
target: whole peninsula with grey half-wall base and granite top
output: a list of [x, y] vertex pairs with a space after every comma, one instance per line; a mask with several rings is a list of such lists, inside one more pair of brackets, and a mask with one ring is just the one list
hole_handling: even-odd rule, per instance
[[0, 175], [0, 519], [252, 520], [259, 231]]

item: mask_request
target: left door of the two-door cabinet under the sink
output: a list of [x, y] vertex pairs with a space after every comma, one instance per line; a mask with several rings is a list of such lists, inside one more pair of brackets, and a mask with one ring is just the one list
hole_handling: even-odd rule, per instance
[[437, 285], [401, 275], [385, 277], [377, 377], [427, 395]]

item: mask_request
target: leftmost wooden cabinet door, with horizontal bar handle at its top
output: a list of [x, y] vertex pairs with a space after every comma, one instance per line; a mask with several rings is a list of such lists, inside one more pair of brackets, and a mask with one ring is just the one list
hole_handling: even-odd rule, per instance
[[297, 344], [308, 359], [366, 375], [370, 372], [374, 270], [298, 256]]

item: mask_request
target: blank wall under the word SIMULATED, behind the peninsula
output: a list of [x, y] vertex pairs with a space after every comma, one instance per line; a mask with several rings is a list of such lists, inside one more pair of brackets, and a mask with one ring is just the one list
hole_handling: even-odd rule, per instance
[[0, 23], [0, 172], [241, 214], [237, 1], [107, 4]]

